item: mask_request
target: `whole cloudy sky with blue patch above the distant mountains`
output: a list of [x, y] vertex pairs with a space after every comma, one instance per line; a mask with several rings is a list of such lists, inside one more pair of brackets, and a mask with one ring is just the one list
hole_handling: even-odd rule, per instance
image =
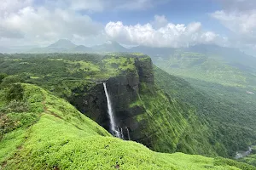
[[[0, 47], [66, 38], [92, 46], [180, 48], [217, 44], [256, 51], [256, 0], [0, 0]], [[256, 53], [255, 53], [256, 54]]]

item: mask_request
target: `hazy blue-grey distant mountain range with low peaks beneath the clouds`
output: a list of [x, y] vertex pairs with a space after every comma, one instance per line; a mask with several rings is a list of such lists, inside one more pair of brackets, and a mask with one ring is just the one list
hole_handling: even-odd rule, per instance
[[[61, 48], [61, 50], [60, 50]], [[250, 61], [256, 62], [256, 58], [244, 54], [239, 50], [238, 48], [226, 48], [226, 47], [221, 47], [216, 44], [198, 44], [194, 46], [189, 46], [188, 48], [153, 48], [153, 47], [147, 47], [147, 46], [136, 46], [132, 48], [125, 48], [119, 42], [116, 41], [107, 41], [105, 43], [91, 46], [91, 47], [86, 47], [84, 45], [76, 45], [73, 42], [71, 42], [68, 39], [60, 39], [52, 44], [49, 44], [49, 46], [44, 47], [44, 48], [32, 48], [30, 50], [27, 50], [26, 52], [28, 53], [83, 53], [83, 52], [128, 52], [128, 53], [143, 53], [143, 54], [148, 54], [151, 56], [164, 56], [164, 55], [170, 55], [173, 54], [177, 50], [183, 50], [185, 52], [196, 52], [196, 53], [219, 53], [221, 51], [232, 51], [233, 53], [230, 54], [240, 54], [241, 56], [245, 57], [246, 59], [244, 60], [249, 60], [247, 64], [250, 63]], [[12, 51], [12, 49], [9, 49], [8, 51]], [[1, 52], [1, 48], [0, 48]], [[20, 52], [20, 51], [19, 51]], [[228, 53], [229, 54], [229, 53]], [[242, 61], [242, 59], [239, 58], [231, 58], [231, 59], [238, 59], [238, 61]], [[230, 61], [230, 59], [228, 59]], [[236, 62], [238, 62], [236, 61]]]

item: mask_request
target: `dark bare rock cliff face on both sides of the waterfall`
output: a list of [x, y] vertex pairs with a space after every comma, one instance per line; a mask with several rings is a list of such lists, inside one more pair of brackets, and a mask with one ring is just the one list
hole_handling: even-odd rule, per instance
[[[130, 105], [137, 101], [141, 83], [154, 86], [154, 76], [149, 57], [135, 59], [135, 66], [136, 71], [126, 71], [117, 77], [109, 78], [106, 82], [117, 126], [123, 129], [125, 139], [128, 139], [129, 129], [131, 139], [138, 141], [143, 137], [137, 133], [140, 132], [141, 125], [136, 117], [145, 111], [143, 107]], [[71, 98], [70, 102], [84, 115], [109, 130], [107, 100], [102, 82], [97, 82], [90, 91]]]

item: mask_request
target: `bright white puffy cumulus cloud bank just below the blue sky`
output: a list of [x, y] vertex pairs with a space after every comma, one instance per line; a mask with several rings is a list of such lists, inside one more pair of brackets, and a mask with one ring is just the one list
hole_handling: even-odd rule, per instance
[[[165, 17], [156, 16], [166, 22]], [[220, 37], [212, 31], [202, 31], [201, 23], [194, 22], [188, 26], [183, 24], [166, 24], [154, 28], [151, 24], [125, 26], [122, 22], [109, 22], [105, 31], [109, 38], [124, 44], [138, 44], [151, 47], [186, 47], [197, 43], [214, 43]]]

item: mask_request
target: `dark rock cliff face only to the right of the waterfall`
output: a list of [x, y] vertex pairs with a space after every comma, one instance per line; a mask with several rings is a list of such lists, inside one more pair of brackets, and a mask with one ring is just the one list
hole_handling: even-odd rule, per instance
[[143, 122], [138, 122], [137, 116], [145, 113], [145, 109], [139, 105], [131, 107], [131, 104], [139, 99], [142, 83], [154, 87], [154, 75], [150, 58], [136, 59], [135, 65], [136, 71], [110, 78], [107, 85], [117, 126], [123, 129], [125, 139], [129, 131], [132, 140], [141, 142], [145, 134], [142, 133]]

